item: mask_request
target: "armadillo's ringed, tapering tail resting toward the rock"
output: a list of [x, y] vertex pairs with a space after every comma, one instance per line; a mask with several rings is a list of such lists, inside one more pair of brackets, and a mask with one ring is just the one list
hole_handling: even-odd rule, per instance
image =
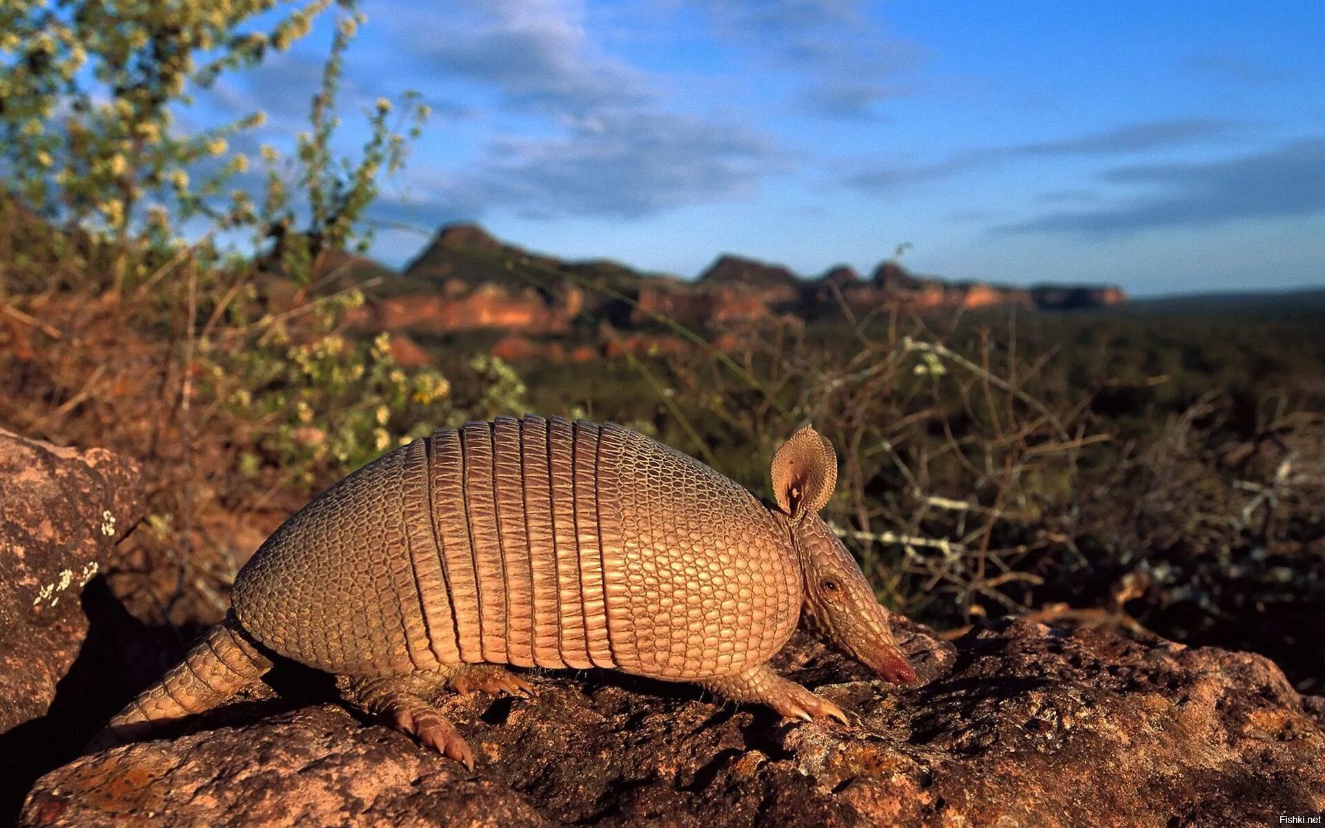
[[138, 694], [87, 746], [105, 749], [216, 707], [272, 669], [235, 613], [212, 627], [160, 681]]

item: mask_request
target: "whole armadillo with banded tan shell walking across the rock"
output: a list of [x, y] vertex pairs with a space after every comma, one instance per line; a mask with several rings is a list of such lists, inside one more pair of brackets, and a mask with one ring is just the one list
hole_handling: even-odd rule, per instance
[[836, 477], [810, 427], [774, 454], [774, 502], [613, 423], [444, 428], [281, 525], [236, 576], [225, 621], [106, 734], [212, 709], [274, 656], [335, 674], [350, 703], [469, 767], [433, 699], [527, 696], [502, 665], [619, 669], [845, 723], [767, 664], [804, 616], [885, 680], [916, 677], [818, 514]]

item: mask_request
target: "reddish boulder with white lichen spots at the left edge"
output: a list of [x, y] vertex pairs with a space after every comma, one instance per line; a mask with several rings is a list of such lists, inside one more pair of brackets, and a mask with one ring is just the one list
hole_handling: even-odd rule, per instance
[[0, 823], [41, 771], [73, 754], [60, 746], [70, 734], [53, 705], [94, 692], [74, 672], [76, 660], [95, 657], [83, 587], [142, 509], [132, 462], [0, 429]]

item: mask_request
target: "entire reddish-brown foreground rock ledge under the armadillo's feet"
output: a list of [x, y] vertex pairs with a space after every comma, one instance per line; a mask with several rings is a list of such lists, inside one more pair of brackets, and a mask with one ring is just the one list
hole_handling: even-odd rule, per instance
[[[1325, 808], [1325, 734], [1263, 657], [904, 624], [896, 689], [804, 633], [779, 669], [853, 725], [689, 685], [534, 674], [448, 697], [473, 774], [337, 705], [246, 702], [44, 776], [23, 825], [1242, 825]], [[310, 698], [317, 698], [311, 694]]]

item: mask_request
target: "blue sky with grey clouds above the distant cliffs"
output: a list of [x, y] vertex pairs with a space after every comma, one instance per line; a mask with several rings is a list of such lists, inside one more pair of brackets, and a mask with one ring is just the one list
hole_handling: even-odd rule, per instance
[[[698, 274], [721, 253], [868, 276], [1325, 285], [1325, 5], [367, 0], [344, 148], [379, 97], [433, 115], [370, 211], [408, 262], [445, 223]], [[331, 37], [196, 117], [289, 147]]]

